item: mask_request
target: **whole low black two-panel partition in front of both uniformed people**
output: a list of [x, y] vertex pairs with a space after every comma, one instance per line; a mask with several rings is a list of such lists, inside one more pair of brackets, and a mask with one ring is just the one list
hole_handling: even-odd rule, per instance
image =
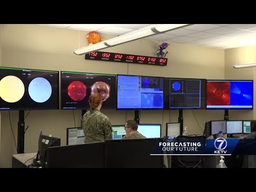
[[163, 168], [162, 156], [151, 156], [157, 138], [116, 139], [81, 145], [49, 147], [49, 168]]

